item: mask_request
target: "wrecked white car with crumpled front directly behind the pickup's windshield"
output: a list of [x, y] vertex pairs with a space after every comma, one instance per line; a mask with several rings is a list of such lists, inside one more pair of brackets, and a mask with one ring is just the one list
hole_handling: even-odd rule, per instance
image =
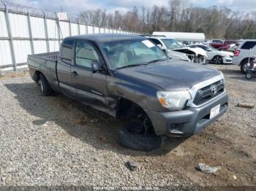
[[205, 63], [206, 51], [200, 48], [186, 47], [176, 39], [170, 39], [164, 36], [148, 36], [151, 42], [161, 47], [170, 58], [191, 61], [195, 63]]

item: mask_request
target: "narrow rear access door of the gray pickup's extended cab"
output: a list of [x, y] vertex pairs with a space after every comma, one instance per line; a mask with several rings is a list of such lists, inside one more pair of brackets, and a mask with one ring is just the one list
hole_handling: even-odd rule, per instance
[[71, 64], [72, 64], [72, 47], [74, 41], [72, 39], [64, 39], [62, 42], [59, 59], [57, 63], [57, 76], [59, 79], [59, 87], [61, 92], [68, 96], [73, 96]]

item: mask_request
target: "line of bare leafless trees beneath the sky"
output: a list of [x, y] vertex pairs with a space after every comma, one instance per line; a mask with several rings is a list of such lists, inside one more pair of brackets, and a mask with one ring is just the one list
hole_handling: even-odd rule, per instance
[[167, 7], [133, 7], [121, 13], [96, 9], [79, 13], [81, 21], [140, 34], [153, 31], [199, 32], [213, 39], [256, 39], [256, 12], [227, 7], [195, 7], [187, 0], [170, 0]]

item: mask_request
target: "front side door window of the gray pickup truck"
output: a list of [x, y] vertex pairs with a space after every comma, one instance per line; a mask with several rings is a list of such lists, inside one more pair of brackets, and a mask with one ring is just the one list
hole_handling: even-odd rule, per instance
[[99, 62], [99, 55], [94, 47], [88, 42], [77, 42], [75, 44], [75, 64], [91, 69], [93, 61]]

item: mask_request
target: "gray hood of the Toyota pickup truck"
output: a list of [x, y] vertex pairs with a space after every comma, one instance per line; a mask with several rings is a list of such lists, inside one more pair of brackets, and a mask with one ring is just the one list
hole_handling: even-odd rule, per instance
[[116, 71], [118, 74], [143, 80], [163, 90], [188, 90], [193, 85], [220, 74], [219, 71], [208, 66], [179, 60], [151, 63]]

